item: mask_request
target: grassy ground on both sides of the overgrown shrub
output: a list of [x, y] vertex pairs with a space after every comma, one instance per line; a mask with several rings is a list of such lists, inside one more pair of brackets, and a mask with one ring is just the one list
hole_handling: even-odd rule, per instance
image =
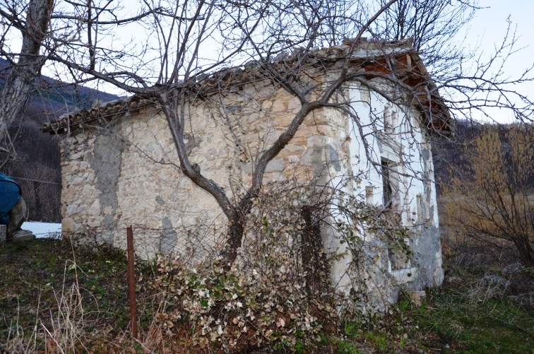
[[[335, 334], [319, 334], [314, 348], [292, 350], [534, 353], [531, 304], [506, 295], [504, 285], [481, 282], [492, 269], [446, 266], [443, 287], [430, 290], [421, 307], [403, 298], [387, 314], [344, 321]], [[137, 266], [139, 279], [151, 272], [150, 264]], [[93, 353], [141, 350], [128, 340], [127, 294], [126, 256], [120, 250], [53, 239], [1, 244], [0, 352], [4, 346], [8, 352], [44, 353], [56, 345]], [[155, 312], [150, 296], [137, 294], [141, 333]]]

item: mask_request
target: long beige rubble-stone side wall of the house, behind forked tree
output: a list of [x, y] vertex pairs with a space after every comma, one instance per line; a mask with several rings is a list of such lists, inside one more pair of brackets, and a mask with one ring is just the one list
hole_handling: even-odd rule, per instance
[[[251, 182], [256, 158], [299, 108], [296, 98], [261, 82], [191, 102], [185, 117], [191, 163], [227, 194], [239, 194]], [[264, 184], [326, 181], [336, 175], [345, 126], [339, 114], [309, 114], [268, 163]], [[66, 234], [89, 232], [125, 248], [125, 228], [134, 225], [143, 233], [140, 248], [146, 256], [180, 252], [196, 258], [225, 236], [225, 218], [215, 199], [179, 171], [172, 136], [157, 107], [78, 129], [64, 140], [62, 152]]]

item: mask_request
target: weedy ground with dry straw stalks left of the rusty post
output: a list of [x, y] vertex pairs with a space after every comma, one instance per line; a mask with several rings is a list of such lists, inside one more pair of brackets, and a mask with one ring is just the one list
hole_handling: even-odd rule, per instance
[[[123, 252], [124, 254], [124, 252]], [[0, 351], [73, 353], [117, 328], [126, 308], [124, 256], [61, 240], [0, 247]], [[127, 314], [126, 314], [127, 318]]]

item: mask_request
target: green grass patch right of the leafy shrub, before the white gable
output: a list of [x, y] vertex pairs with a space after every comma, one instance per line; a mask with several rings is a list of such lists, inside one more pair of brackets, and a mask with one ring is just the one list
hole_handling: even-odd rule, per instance
[[[477, 283], [485, 271], [494, 269], [455, 269], [453, 276], [460, 281], [429, 290], [420, 307], [401, 297], [385, 316], [345, 323], [343, 336], [333, 340], [338, 352], [533, 354], [533, 307], [510, 300], [504, 291], [477, 298], [474, 293], [486, 295], [473, 291], [477, 286], [485, 290]], [[523, 281], [532, 281], [525, 273]]]

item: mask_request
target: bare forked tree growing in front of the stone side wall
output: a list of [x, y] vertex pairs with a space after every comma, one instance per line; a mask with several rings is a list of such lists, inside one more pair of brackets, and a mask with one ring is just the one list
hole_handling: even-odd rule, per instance
[[[152, 61], [125, 61], [124, 57], [128, 54], [124, 49], [115, 52], [112, 48], [100, 47], [93, 38], [101, 37], [102, 23], [112, 23], [102, 18], [98, 25], [96, 21], [88, 21], [85, 29], [87, 40], [81, 47], [83, 51], [66, 47], [69, 52], [61, 54], [55, 51], [50, 59], [78, 72], [79, 81], [100, 79], [160, 103], [174, 138], [182, 172], [213, 196], [229, 221], [223, 256], [227, 264], [231, 264], [242, 243], [245, 216], [262, 188], [266, 165], [295, 136], [310, 112], [331, 106], [331, 98], [346, 82], [364, 76], [350, 71], [351, 63], [347, 59], [336, 69], [338, 78], [317, 90], [312, 99], [309, 93], [317, 89], [314, 84], [299, 83], [299, 78], [305, 73], [306, 52], [315, 45], [341, 40], [349, 30], [352, 33], [356, 30], [356, 37], [352, 38], [347, 49], [350, 57], [369, 25], [395, 1], [389, 1], [374, 16], [361, 23], [351, 20], [357, 17], [357, 12], [355, 16], [346, 13], [353, 5], [350, 1], [340, 1], [336, 5], [328, 1], [187, 1], [169, 3], [163, 9], [160, 3], [155, 6], [146, 1], [147, 11], [153, 13], [151, 29], [157, 35], [158, 46], [152, 48], [147, 44], [142, 48], [142, 54], [148, 56], [154, 51], [155, 59]], [[352, 10], [355, 11], [354, 8]], [[92, 10], [88, 8], [87, 11], [91, 13]], [[161, 16], [161, 11], [168, 16]], [[343, 28], [345, 32], [340, 33], [338, 28]], [[215, 55], [203, 58], [203, 49], [213, 41], [223, 42], [224, 45]], [[295, 47], [302, 55], [292, 56], [295, 59], [292, 62], [278, 60], [289, 55], [287, 51]], [[184, 143], [187, 134], [184, 117], [186, 95], [191, 93], [191, 88], [203, 73], [257, 57], [260, 58], [257, 64], [261, 68], [261, 76], [295, 95], [302, 108], [278, 139], [257, 157], [251, 186], [239, 191], [232, 199], [223, 187], [203, 175], [201, 166], [189, 161]], [[105, 70], [99, 70], [95, 64], [99, 61], [105, 64]], [[133, 63], [136, 70], [126, 68], [124, 63]], [[140, 75], [140, 72], [149, 74]]]

